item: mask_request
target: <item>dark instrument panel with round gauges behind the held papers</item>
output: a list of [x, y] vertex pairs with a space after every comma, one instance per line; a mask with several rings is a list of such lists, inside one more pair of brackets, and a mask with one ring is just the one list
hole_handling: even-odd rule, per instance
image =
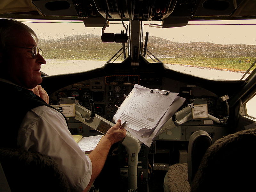
[[[112, 117], [124, 101], [125, 96], [131, 92], [134, 84], [140, 84], [151, 89], [163, 89], [170, 90], [171, 92], [178, 92], [179, 96], [186, 98], [186, 101], [181, 108], [187, 107], [193, 99], [204, 98], [208, 102], [208, 112], [210, 115], [217, 118], [223, 118], [224, 116], [225, 107], [223, 106], [223, 103], [219, 101], [216, 94], [194, 84], [185, 84], [162, 76], [152, 77], [148, 74], [111, 75], [77, 82], [52, 93], [50, 95], [50, 104], [58, 105], [61, 97], [75, 97], [82, 106], [89, 109], [89, 100], [92, 99], [95, 105], [95, 113], [109, 121], [112, 121]], [[76, 123], [75, 119], [69, 119], [68, 121], [70, 125]], [[188, 126], [192, 126], [189, 130], [197, 130], [198, 126], [199, 129], [203, 130], [207, 130], [211, 127], [211, 133], [216, 139], [226, 134], [223, 132], [224, 129], [218, 128], [221, 127], [220, 124], [213, 122], [211, 125], [205, 126], [202, 120], [193, 120], [186, 122], [178, 128], [177, 134], [180, 135], [179, 137], [175, 135], [175, 131], [173, 130], [171, 135], [160, 135], [158, 139], [186, 141], [189, 139], [191, 132], [187, 131], [186, 134], [181, 134], [181, 132], [183, 128], [186, 129]], [[200, 126], [203, 127], [200, 128]], [[72, 130], [76, 130], [76, 128]], [[84, 136], [89, 136], [82, 129], [78, 130], [79, 131], [71, 133], [80, 133]], [[95, 130], [91, 130], [92, 133], [94, 131]]]

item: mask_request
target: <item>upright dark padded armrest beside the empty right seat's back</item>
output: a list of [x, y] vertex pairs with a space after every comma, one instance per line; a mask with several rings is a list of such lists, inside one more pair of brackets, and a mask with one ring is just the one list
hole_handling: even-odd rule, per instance
[[191, 186], [205, 151], [212, 145], [212, 138], [205, 131], [196, 131], [188, 143], [188, 182]]

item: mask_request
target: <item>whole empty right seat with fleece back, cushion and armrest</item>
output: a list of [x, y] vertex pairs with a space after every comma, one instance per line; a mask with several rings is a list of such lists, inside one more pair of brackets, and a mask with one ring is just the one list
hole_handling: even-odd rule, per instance
[[[169, 167], [164, 179], [164, 191], [252, 191], [255, 188], [256, 129], [227, 135], [212, 145], [207, 135], [204, 131], [191, 135], [188, 164], [174, 164]], [[196, 140], [205, 143], [197, 143]], [[202, 146], [209, 147], [205, 153]], [[201, 150], [202, 160], [196, 157], [197, 148]], [[200, 154], [197, 155], [200, 157]]]

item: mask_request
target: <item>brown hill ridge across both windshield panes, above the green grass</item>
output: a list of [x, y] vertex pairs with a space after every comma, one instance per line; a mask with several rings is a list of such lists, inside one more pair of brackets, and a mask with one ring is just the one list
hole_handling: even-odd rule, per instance
[[[49, 59], [109, 59], [121, 43], [102, 43], [93, 34], [67, 36], [60, 39], [39, 39], [38, 46]], [[177, 43], [160, 37], [149, 36], [147, 48], [157, 57], [235, 58], [256, 57], [256, 45], [213, 44], [209, 42]]]

